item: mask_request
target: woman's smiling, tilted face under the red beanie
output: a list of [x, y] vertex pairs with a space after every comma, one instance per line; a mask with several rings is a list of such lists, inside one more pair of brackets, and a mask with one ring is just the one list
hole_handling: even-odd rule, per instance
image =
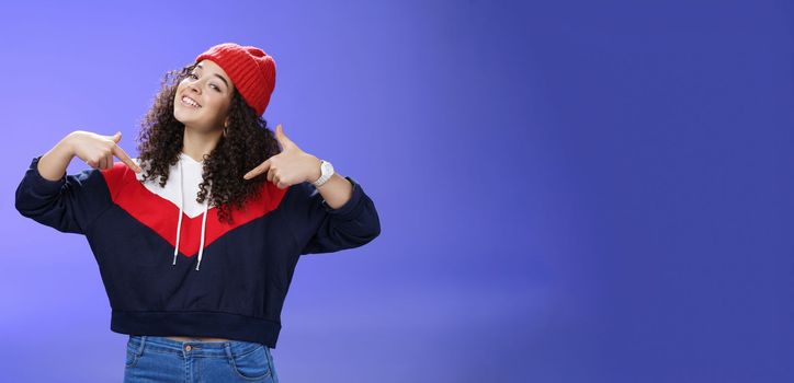
[[202, 60], [177, 86], [173, 116], [200, 131], [220, 130], [231, 105], [235, 85], [211, 60]]

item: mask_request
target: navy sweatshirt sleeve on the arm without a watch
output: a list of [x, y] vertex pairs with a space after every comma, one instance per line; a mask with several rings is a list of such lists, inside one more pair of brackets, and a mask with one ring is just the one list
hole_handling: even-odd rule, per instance
[[[26, 218], [64, 233], [86, 234], [98, 213], [106, 207], [107, 192], [101, 171], [90, 169], [58, 181], [44, 178], [34, 158], [16, 187], [16, 210]], [[104, 190], [104, 194], [102, 193]]]

